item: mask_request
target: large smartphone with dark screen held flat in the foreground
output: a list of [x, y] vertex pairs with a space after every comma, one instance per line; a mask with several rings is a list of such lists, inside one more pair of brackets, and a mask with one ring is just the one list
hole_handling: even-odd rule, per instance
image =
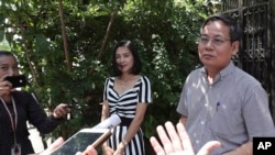
[[100, 146], [111, 135], [110, 129], [81, 129], [57, 147], [51, 155], [73, 155], [84, 152], [87, 146]]

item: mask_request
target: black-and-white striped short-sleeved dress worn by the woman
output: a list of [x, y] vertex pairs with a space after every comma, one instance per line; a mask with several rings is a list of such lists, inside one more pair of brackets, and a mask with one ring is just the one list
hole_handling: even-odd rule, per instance
[[[133, 118], [139, 102], [151, 103], [152, 91], [147, 77], [141, 76], [133, 88], [119, 95], [114, 90], [114, 77], [106, 80], [103, 99], [108, 100], [110, 115], [117, 113], [121, 119], [121, 124], [113, 129], [113, 134], [109, 139], [109, 145], [116, 151], [119, 143], [124, 137]], [[124, 155], [145, 155], [143, 132], [141, 129], [125, 147]]]

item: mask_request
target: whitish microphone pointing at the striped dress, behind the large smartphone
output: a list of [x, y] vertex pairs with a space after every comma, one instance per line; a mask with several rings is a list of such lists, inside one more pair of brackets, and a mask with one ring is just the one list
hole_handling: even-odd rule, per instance
[[121, 123], [120, 117], [118, 114], [112, 114], [111, 117], [109, 117], [105, 121], [98, 123], [92, 129], [112, 129], [120, 123]]

